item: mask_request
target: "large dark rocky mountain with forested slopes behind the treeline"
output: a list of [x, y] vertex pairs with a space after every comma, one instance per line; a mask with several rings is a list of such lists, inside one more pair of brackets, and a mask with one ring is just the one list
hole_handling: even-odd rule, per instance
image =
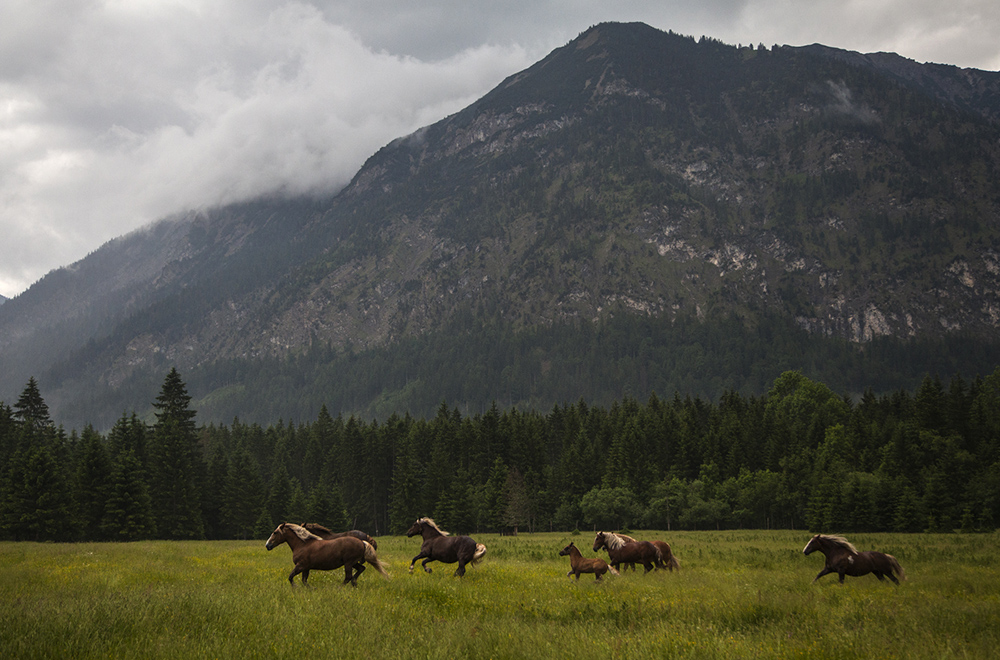
[[165, 219], [0, 307], [0, 398], [202, 421], [912, 387], [1000, 363], [1000, 74], [601, 24], [328, 199]]

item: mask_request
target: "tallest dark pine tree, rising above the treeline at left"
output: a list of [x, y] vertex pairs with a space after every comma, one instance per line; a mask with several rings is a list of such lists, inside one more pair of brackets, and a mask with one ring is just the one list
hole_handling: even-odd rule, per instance
[[195, 411], [177, 369], [171, 369], [156, 397], [156, 424], [149, 448], [150, 495], [156, 529], [165, 539], [200, 539], [202, 519], [201, 452], [195, 434]]

